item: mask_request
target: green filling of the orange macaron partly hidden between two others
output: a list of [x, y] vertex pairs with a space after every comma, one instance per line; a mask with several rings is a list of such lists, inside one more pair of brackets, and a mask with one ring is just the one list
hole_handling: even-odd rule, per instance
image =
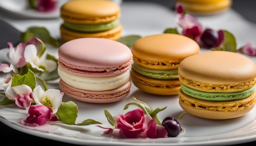
[[146, 77], [151, 77], [153, 79], [169, 80], [169, 79], [177, 79], [179, 77], [178, 69], [153, 70], [153, 69], [146, 69], [142, 66], [139, 66], [136, 63], [132, 64], [132, 69], [141, 75], [144, 75]]

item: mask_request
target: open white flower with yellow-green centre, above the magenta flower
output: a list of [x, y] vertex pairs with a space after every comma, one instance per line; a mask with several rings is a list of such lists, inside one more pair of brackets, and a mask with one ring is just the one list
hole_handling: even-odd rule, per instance
[[52, 108], [53, 113], [58, 111], [58, 107], [62, 104], [63, 93], [57, 89], [49, 89], [43, 91], [41, 86], [36, 86], [33, 91], [33, 97], [36, 104], [43, 104]]

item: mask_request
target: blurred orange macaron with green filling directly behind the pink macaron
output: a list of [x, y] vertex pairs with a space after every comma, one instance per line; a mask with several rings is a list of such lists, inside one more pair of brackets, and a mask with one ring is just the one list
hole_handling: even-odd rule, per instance
[[110, 0], [70, 0], [61, 7], [61, 38], [121, 38], [120, 7]]

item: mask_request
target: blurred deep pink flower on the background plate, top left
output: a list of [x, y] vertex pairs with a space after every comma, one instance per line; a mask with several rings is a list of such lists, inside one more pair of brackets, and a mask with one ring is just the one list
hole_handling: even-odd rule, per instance
[[49, 12], [56, 9], [57, 0], [37, 0], [37, 9], [41, 12]]

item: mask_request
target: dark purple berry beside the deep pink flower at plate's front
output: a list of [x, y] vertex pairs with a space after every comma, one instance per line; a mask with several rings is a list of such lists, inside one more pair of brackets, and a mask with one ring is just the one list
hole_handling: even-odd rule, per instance
[[162, 122], [162, 126], [165, 127], [168, 137], [176, 137], [182, 131], [180, 123], [173, 117], [166, 117]]

